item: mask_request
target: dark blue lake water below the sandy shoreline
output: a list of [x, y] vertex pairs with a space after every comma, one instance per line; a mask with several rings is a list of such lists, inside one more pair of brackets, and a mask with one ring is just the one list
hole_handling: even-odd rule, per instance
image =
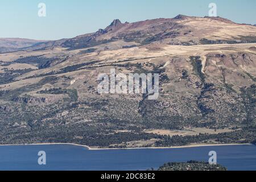
[[[46, 152], [46, 165], [38, 164], [39, 151]], [[0, 170], [145, 170], [167, 162], [207, 162], [209, 151], [229, 170], [256, 170], [255, 145], [88, 150], [68, 144], [0, 146]]]

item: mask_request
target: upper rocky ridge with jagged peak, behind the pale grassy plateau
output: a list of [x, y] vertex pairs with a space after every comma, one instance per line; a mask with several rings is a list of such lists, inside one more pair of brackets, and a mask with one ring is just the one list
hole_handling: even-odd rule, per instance
[[97, 32], [72, 39], [51, 41], [48, 44], [36, 44], [27, 50], [53, 46], [80, 49], [114, 43], [118, 40], [134, 43], [133, 46], [150, 43], [192, 46], [256, 42], [254, 26], [234, 23], [221, 17], [199, 18], [177, 15], [175, 18], [159, 18], [135, 23], [122, 23], [119, 19], [115, 19], [108, 27]]

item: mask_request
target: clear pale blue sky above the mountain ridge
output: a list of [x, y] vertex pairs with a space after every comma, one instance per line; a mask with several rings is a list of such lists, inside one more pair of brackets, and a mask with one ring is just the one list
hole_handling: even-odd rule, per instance
[[[46, 3], [44, 18], [38, 16], [40, 2]], [[205, 16], [210, 2], [217, 4], [218, 16], [256, 24], [255, 0], [1, 0], [0, 38], [55, 40], [97, 31], [113, 19]]]

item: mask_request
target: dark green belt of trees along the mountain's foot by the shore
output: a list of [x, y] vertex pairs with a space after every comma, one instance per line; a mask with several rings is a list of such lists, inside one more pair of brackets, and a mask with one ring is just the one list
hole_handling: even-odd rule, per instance
[[[44, 130], [47, 131], [47, 130]], [[74, 131], [68, 131], [63, 127], [62, 131], [51, 132], [47, 131], [44, 134], [39, 134], [35, 131], [32, 133], [20, 134], [19, 137], [6, 138], [2, 136], [1, 144], [24, 144], [24, 143], [76, 143], [87, 146], [99, 147], [119, 147], [126, 148], [127, 142], [135, 140], [150, 140], [152, 138], [157, 141], [152, 145], [148, 144], [143, 147], [171, 147], [171, 146], [185, 146], [191, 143], [254, 143], [256, 144], [256, 126], [244, 127], [242, 130], [232, 131], [220, 134], [199, 134], [194, 136], [180, 136], [175, 135], [157, 135], [139, 132], [123, 132], [114, 134], [97, 134], [91, 133], [81, 128], [76, 129], [76, 134], [82, 136], [81, 138], [73, 137]], [[113, 144], [118, 144], [114, 145]], [[110, 146], [111, 145], [111, 146]], [[136, 147], [136, 146], [134, 146]]]

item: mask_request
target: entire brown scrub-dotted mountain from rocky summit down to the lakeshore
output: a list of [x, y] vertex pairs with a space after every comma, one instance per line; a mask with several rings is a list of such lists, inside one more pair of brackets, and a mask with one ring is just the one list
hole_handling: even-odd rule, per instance
[[[253, 143], [255, 38], [255, 26], [177, 15], [116, 19], [91, 34], [1, 53], [0, 143]], [[97, 77], [110, 69], [158, 73], [158, 99], [98, 93]]]

